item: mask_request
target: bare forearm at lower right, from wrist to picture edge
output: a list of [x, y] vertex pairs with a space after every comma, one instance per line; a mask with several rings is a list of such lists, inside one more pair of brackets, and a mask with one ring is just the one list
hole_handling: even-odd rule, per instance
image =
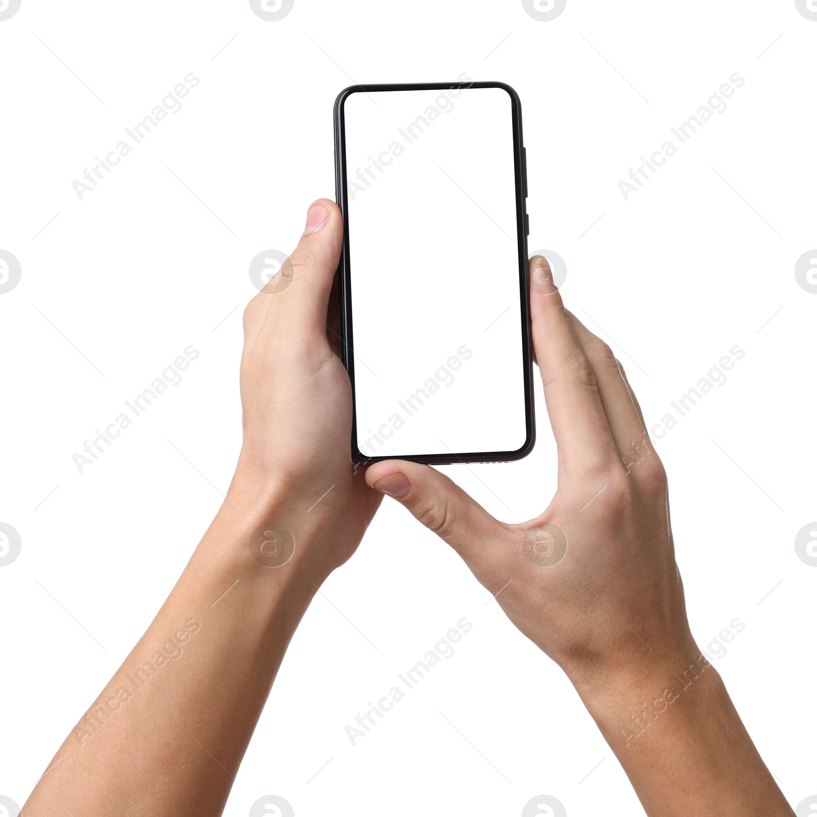
[[638, 672], [601, 673], [577, 689], [650, 817], [791, 817], [721, 676], [698, 650]]

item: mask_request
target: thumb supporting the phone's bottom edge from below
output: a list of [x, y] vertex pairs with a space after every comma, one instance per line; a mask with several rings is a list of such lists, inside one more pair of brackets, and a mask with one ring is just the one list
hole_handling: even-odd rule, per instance
[[416, 520], [448, 542], [469, 564], [506, 533], [504, 525], [462, 488], [419, 462], [376, 462], [368, 467], [366, 482], [407, 507]]

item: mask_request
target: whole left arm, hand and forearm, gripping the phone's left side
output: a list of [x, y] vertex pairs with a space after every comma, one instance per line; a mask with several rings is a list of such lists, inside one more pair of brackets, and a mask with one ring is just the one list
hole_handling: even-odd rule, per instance
[[337, 205], [319, 199], [291, 263], [244, 310], [225, 504], [26, 815], [221, 814], [297, 623], [381, 499], [350, 467], [351, 386], [328, 340], [342, 243]]

